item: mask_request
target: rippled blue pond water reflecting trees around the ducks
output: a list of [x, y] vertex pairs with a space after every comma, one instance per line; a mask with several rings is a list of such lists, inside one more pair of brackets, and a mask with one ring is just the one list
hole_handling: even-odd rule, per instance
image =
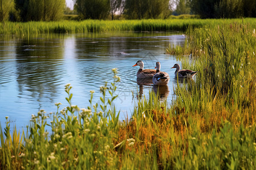
[[[121, 110], [120, 120], [131, 115], [138, 96], [148, 96], [153, 86], [139, 86], [132, 67], [138, 60], [144, 69], [170, 75], [168, 87], [162, 91], [171, 103], [175, 56], [164, 54], [169, 43], [183, 45], [185, 37], [177, 32], [115, 32], [79, 35], [40, 35], [37, 37], [0, 37], [0, 122], [5, 116], [17, 128], [28, 125], [31, 114], [40, 109], [56, 112], [55, 103], [68, 106], [64, 86], [73, 87], [72, 104], [87, 108], [90, 90], [93, 103], [100, 102], [100, 86], [113, 81], [112, 68], [118, 68], [121, 82], [117, 84], [114, 104]], [[142, 82], [143, 83], [143, 82]]]

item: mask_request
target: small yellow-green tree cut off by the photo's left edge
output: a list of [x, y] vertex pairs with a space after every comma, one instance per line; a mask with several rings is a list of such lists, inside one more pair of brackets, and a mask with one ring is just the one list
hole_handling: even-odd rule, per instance
[[9, 12], [13, 8], [13, 1], [0, 0], [0, 22], [9, 18]]

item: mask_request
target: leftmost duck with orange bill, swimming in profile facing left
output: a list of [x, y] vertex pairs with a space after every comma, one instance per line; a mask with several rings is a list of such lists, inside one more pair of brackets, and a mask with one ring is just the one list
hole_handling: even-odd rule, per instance
[[156, 73], [156, 70], [154, 70], [154, 69], [144, 69], [144, 70], [143, 70], [143, 68], [144, 68], [144, 63], [143, 63], [143, 61], [141, 61], [141, 60], [137, 61], [137, 62], [135, 63], [135, 65], [133, 65], [133, 67], [134, 67], [134, 66], [139, 66], [139, 70], [138, 70], [138, 72], [137, 72], [137, 78], [138, 78], [138, 79], [144, 79], [144, 78], [150, 78], [150, 79], [152, 79], [153, 76], [154, 76], [155, 73]]

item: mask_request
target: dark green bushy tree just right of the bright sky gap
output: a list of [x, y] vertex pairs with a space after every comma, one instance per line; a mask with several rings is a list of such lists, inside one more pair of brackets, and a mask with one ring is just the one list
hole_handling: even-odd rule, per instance
[[110, 0], [74, 0], [82, 19], [106, 19], [110, 13]]

